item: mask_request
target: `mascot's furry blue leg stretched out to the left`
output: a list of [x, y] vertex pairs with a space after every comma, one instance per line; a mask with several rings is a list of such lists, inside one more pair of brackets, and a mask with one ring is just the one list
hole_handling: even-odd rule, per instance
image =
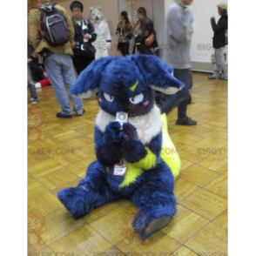
[[73, 219], [80, 219], [93, 209], [119, 199], [120, 195], [111, 191], [107, 183], [107, 172], [95, 161], [77, 187], [57, 192], [57, 198], [71, 212]]

